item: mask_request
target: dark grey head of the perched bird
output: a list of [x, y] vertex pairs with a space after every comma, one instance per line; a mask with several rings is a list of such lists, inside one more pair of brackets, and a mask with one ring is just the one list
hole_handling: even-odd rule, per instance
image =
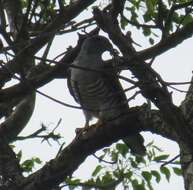
[[110, 51], [110, 53], [113, 53], [113, 46], [104, 36], [96, 35], [87, 38], [84, 41], [82, 50], [86, 51], [88, 54], [102, 54], [105, 51]]

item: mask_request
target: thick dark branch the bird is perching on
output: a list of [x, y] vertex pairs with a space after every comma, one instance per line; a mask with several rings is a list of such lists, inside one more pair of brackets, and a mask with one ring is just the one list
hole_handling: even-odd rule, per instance
[[[70, 176], [88, 155], [135, 131], [141, 129], [152, 130], [153, 132], [160, 131], [165, 137], [168, 134], [173, 134], [169, 132], [168, 126], [161, 120], [158, 111], [153, 111], [149, 117], [141, 116], [145, 113], [147, 113], [147, 110], [143, 106], [132, 108], [119, 126], [114, 125], [113, 122], [98, 127], [93, 125], [86, 133], [77, 136], [57, 158], [26, 178], [21, 184], [20, 190], [51, 189], [54, 185], [61, 183], [67, 176]], [[151, 119], [152, 122], [150, 123], [149, 120]], [[175, 135], [170, 137], [175, 139]]]

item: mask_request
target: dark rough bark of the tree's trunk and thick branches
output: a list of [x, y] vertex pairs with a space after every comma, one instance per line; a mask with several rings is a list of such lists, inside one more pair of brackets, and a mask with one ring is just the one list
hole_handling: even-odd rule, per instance
[[[118, 15], [123, 12], [125, 0], [113, 0], [108, 11], [95, 8], [94, 18], [98, 27], [109, 35], [121, 51], [123, 56], [119, 57], [119, 61], [138, 79], [136, 85], [140, 88], [141, 94], [153, 102], [159, 110], [150, 110], [144, 104], [129, 108], [128, 115], [123, 117], [119, 125], [114, 123], [107, 123], [102, 127], [94, 125], [86, 133], [77, 135], [59, 156], [40, 170], [29, 177], [23, 177], [19, 161], [8, 143], [14, 141], [28, 123], [35, 105], [35, 90], [55, 78], [66, 78], [68, 67], [77, 56], [84, 38], [98, 33], [96, 29], [81, 36], [77, 46], [69, 50], [59, 63], [55, 62], [55, 66], [45, 64], [35, 66], [34, 55], [95, 0], [77, 0], [69, 6], [63, 6], [61, 1], [59, 2], [59, 13], [37, 36], [30, 39], [28, 28], [23, 24], [26, 23], [26, 17], [22, 14], [20, 1], [0, 1], [0, 32], [7, 43], [12, 45], [11, 49], [15, 53], [15, 57], [0, 68], [0, 87], [3, 87], [15, 73], [24, 75], [18, 84], [0, 90], [0, 117], [6, 116], [4, 122], [0, 124], [0, 175], [3, 176], [0, 189], [51, 190], [66, 177], [71, 176], [86, 157], [95, 151], [133, 132], [151, 131], [179, 144], [185, 189], [193, 190], [193, 79], [186, 98], [181, 106], [177, 107], [172, 102], [167, 84], [159, 73], [145, 63], [146, 59], [158, 56], [191, 37], [193, 22], [173, 34], [164, 36], [151, 48], [137, 52], [132, 41], [120, 30], [117, 21]], [[6, 10], [7, 21], [2, 7]], [[5, 22], [10, 26], [12, 38], [6, 33]], [[19, 42], [20, 45], [13, 42]]]

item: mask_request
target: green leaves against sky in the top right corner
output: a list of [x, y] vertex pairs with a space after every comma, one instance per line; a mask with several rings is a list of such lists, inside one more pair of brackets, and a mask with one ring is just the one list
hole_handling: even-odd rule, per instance
[[160, 36], [179, 30], [193, 21], [193, 7], [185, 0], [131, 0], [127, 1], [120, 25], [140, 29], [150, 44]]

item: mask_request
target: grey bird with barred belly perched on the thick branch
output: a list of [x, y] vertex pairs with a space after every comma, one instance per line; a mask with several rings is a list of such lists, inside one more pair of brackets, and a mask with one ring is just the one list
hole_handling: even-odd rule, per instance
[[[74, 100], [81, 105], [85, 126], [92, 118], [98, 123], [120, 123], [128, 113], [128, 101], [113, 65], [105, 64], [102, 54], [114, 49], [110, 41], [101, 35], [84, 40], [80, 52], [69, 67], [67, 84]], [[144, 139], [140, 133], [132, 133], [123, 141], [135, 155], [145, 155]]]

